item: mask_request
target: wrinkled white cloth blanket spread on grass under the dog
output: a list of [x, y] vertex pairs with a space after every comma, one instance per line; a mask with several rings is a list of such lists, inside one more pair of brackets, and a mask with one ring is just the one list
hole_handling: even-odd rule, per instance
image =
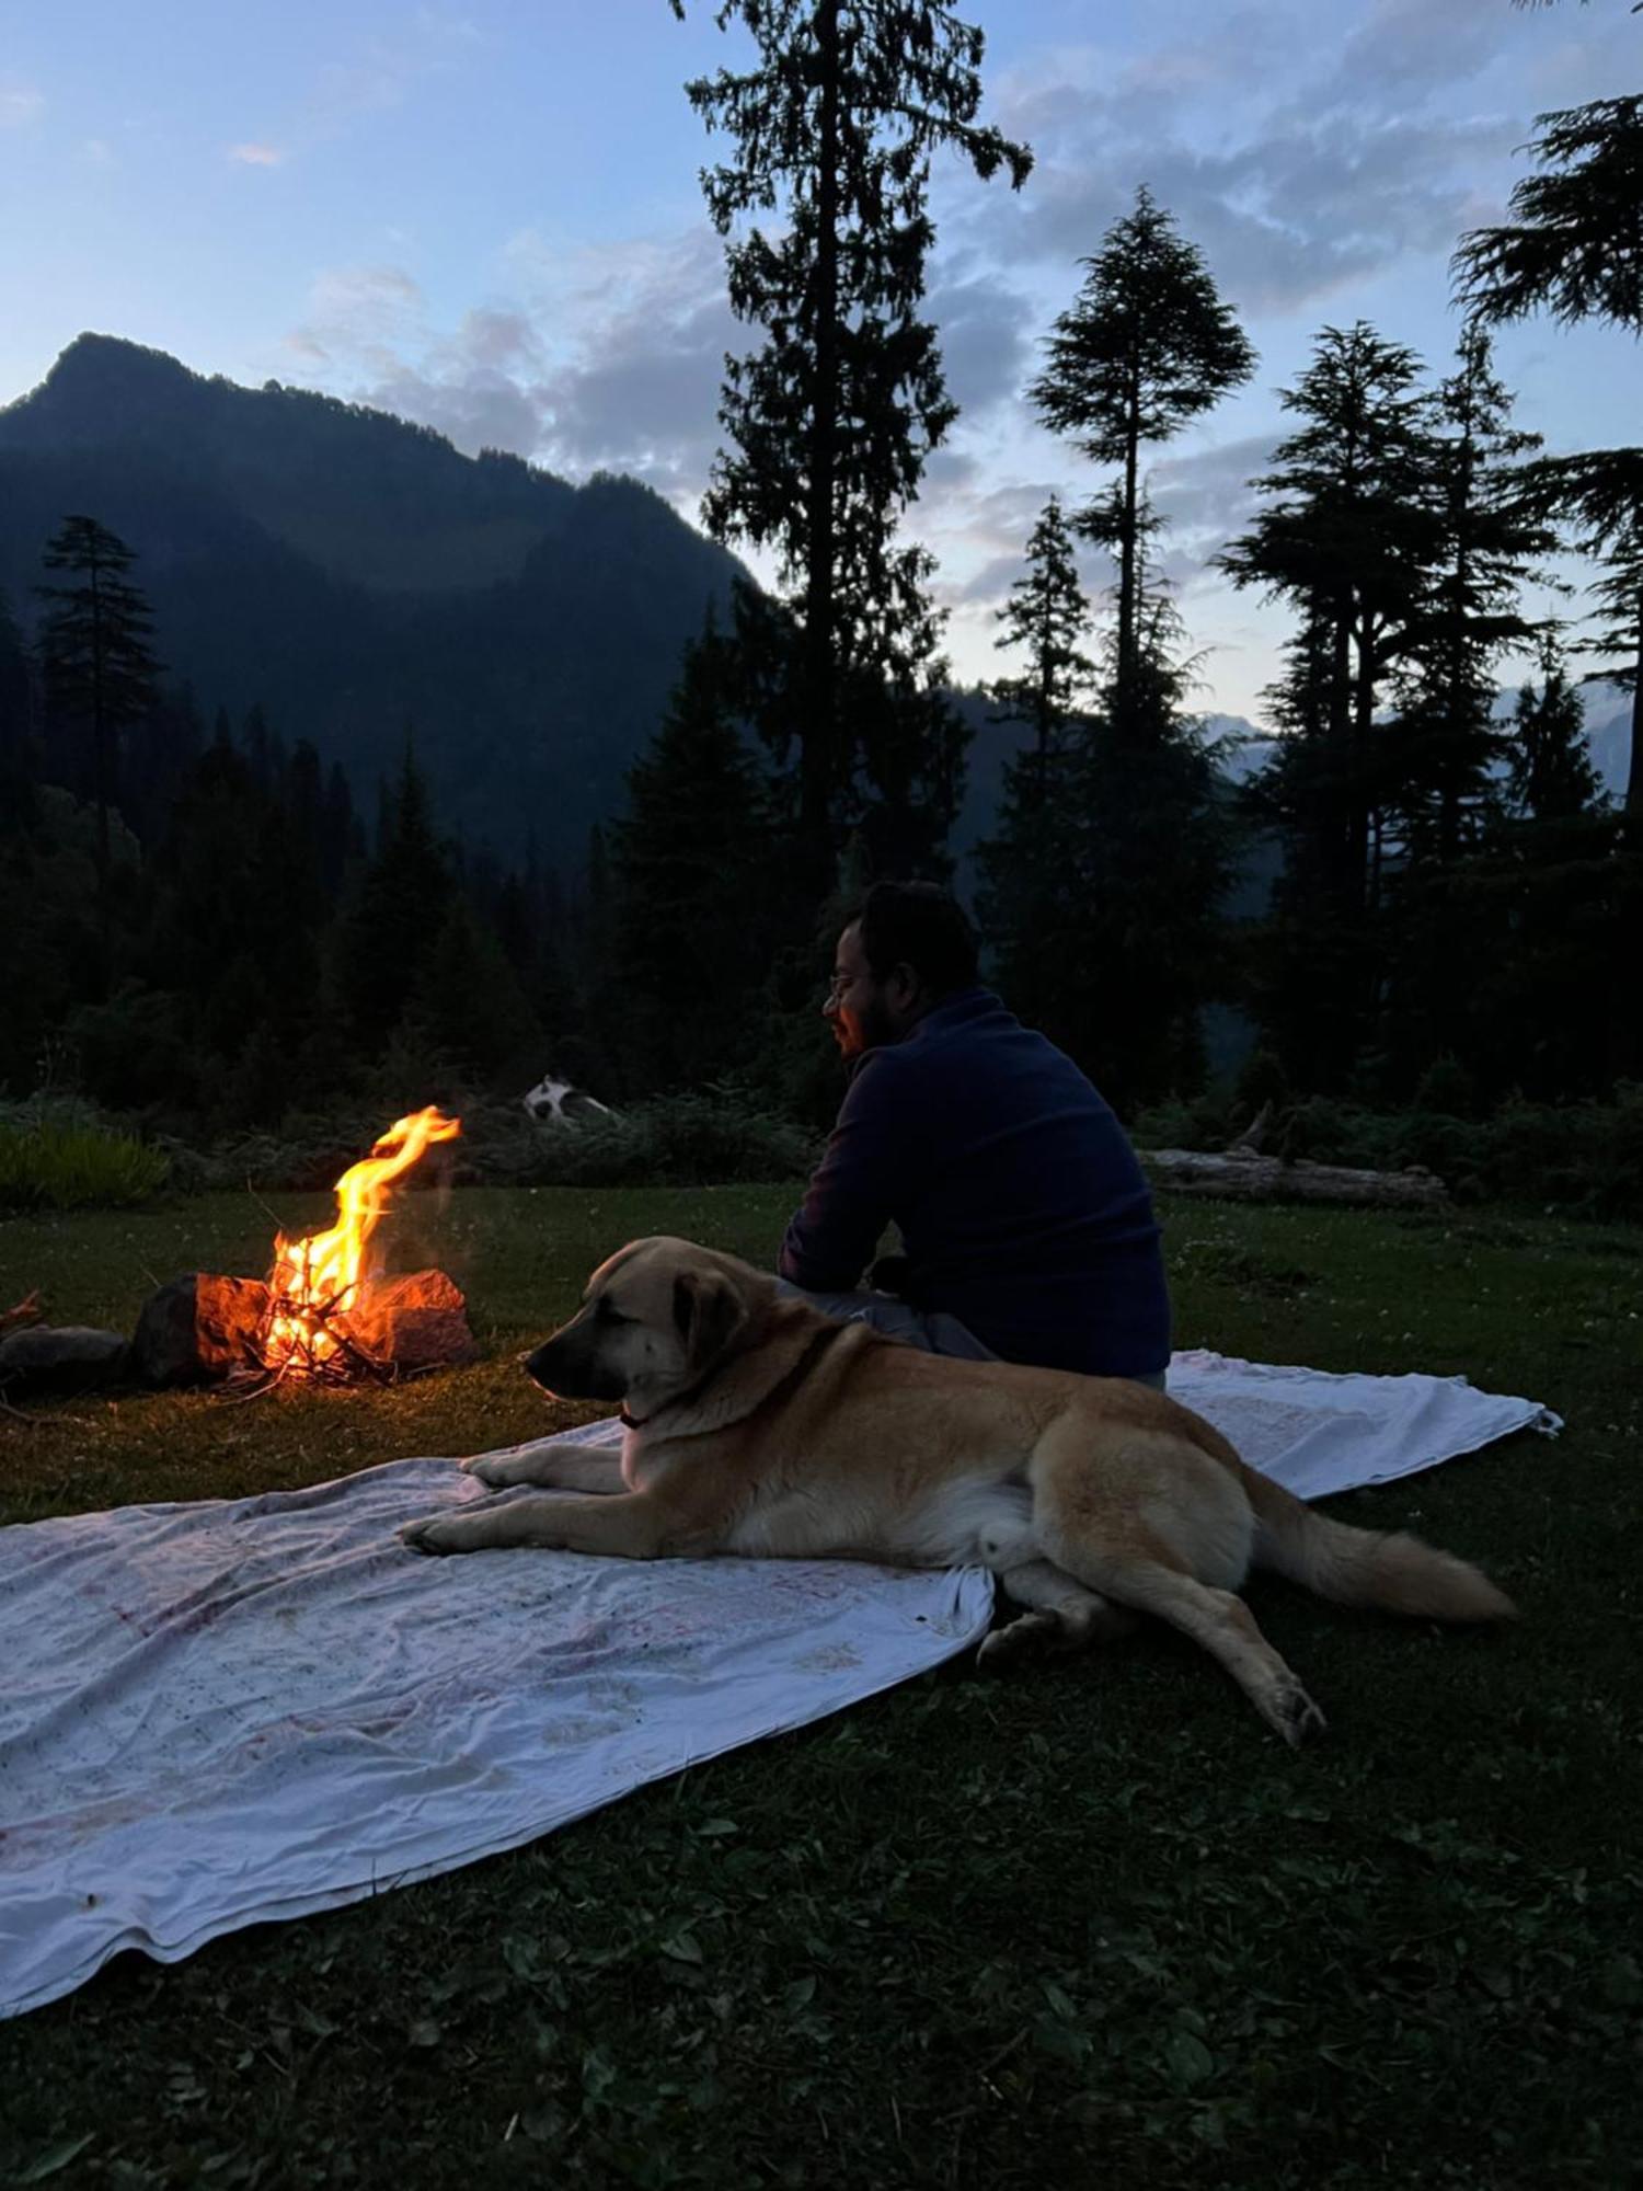
[[[1303, 1496], [1555, 1429], [1459, 1378], [1179, 1354], [1170, 1389]], [[478, 1496], [407, 1459], [0, 1529], [0, 2018], [120, 1948], [175, 1963], [517, 1847], [938, 1665], [992, 1608], [981, 1569], [397, 1542]]]

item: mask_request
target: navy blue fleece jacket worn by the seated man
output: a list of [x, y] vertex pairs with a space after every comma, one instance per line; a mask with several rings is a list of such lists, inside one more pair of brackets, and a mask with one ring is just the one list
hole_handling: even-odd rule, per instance
[[1124, 1128], [1084, 1074], [990, 990], [966, 988], [868, 1049], [780, 1273], [861, 1284], [900, 1229], [914, 1306], [1006, 1361], [1150, 1376], [1170, 1361], [1159, 1225]]

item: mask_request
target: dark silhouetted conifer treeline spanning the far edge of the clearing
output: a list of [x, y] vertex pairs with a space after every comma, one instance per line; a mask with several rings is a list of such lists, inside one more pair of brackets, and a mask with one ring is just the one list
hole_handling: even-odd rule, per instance
[[[981, 39], [944, 9], [743, 13], [756, 66], [690, 96], [734, 142], [708, 202], [769, 340], [729, 368], [705, 515], [771, 548], [782, 589], [743, 585], [686, 649], [581, 872], [502, 870], [447, 841], [410, 727], [359, 813], [296, 725], [206, 723], [166, 684], [140, 543], [66, 517], [13, 605], [31, 635], [0, 613], [0, 1089], [44, 1076], [237, 1131], [346, 1096], [517, 1096], [554, 1067], [618, 1100], [736, 1080], [826, 1115], [839, 911], [878, 874], [951, 876], [964, 789], [929, 557], [896, 537], [955, 416], [918, 311], [927, 171], [946, 149], [1019, 186], [1030, 153], [977, 123]], [[1582, 116], [1538, 145], [1577, 202], [1582, 162], [1625, 162], [1639, 101]], [[1593, 204], [1601, 228], [1601, 175]], [[1211, 1006], [1240, 1014], [1251, 1089], [1481, 1115], [1643, 1076], [1636, 741], [1610, 808], [1566, 657], [1636, 681], [1643, 451], [1542, 451], [1487, 337], [1531, 309], [1639, 326], [1636, 300], [1566, 294], [1558, 250], [1514, 245], [1566, 226], [1569, 195], [1512, 213], [1461, 243], [1448, 370], [1358, 322], [1282, 390], [1292, 432], [1220, 557], [1292, 616], [1275, 752], [1242, 791], [1190, 706], [1146, 462], [1255, 355], [1148, 191], [1047, 331], [1032, 401], [1069, 475], [1001, 611], [990, 708], [1016, 758], [977, 909], [1008, 999], [1126, 1115], [1203, 1089]], [[1111, 554], [1111, 613], [1080, 539]], [[1590, 638], [1525, 607], [1571, 546], [1597, 559]], [[1512, 655], [1538, 668], [1501, 716]]]

